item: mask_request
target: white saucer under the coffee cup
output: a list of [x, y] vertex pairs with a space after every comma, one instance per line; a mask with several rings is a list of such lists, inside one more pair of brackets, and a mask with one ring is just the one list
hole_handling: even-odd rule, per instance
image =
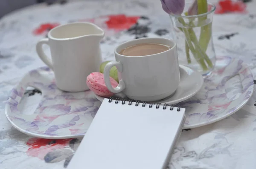
[[[204, 79], [199, 72], [196, 72], [189, 67], [180, 65], [180, 84], [175, 91], [174, 95], [165, 99], [156, 101], [157, 103], [176, 104], [190, 97], [194, 96], [200, 91], [204, 84]], [[103, 101], [105, 97], [95, 95], [99, 101]], [[122, 95], [115, 95], [116, 97], [122, 97]]]

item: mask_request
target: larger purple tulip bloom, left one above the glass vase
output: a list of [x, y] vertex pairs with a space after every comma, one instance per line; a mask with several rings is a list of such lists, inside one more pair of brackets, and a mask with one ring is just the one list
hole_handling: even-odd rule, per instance
[[162, 8], [168, 14], [182, 14], [185, 7], [185, 0], [161, 0]]

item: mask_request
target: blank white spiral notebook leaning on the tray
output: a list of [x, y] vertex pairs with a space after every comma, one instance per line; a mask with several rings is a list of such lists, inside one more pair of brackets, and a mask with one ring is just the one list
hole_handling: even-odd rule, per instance
[[165, 169], [185, 109], [104, 99], [68, 169]]

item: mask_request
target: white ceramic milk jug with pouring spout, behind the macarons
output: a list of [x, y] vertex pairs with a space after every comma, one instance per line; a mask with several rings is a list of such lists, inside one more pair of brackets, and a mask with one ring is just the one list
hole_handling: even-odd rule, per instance
[[[67, 92], [88, 90], [86, 77], [97, 72], [102, 63], [100, 40], [104, 32], [92, 23], [69, 23], [50, 30], [48, 38], [37, 43], [36, 51], [53, 70], [56, 85]], [[50, 46], [52, 61], [42, 45]]]

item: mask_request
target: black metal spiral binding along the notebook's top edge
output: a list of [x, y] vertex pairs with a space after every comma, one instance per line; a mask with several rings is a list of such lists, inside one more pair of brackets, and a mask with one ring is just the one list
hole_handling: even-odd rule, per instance
[[[117, 98], [113, 98], [113, 97], [110, 97], [109, 98], [109, 100], [108, 100], [108, 102], [109, 103], [111, 103], [112, 102], [112, 100], [115, 100], [115, 103], [117, 104], [119, 101], [122, 101], [122, 104], [125, 104], [125, 102], [126, 101], [128, 101], [128, 105], [131, 105], [132, 104], [132, 102], [135, 102], [135, 106], [139, 106], [139, 103], [142, 103], [142, 107], [145, 107], [146, 106], [146, 104], [149, 104], [149, 108], [152, 108], [152, 106], [155, 104], [155, 103], [153, 103], [153, 102], [151, 102], [151, 103], [148, 103], [148, 102], [145, 102], [145, 101], [140, 101], [140, 100], [133, 100], [133, 99], [129, 99], [129, 100], [126, 100], [125, 98], [120, 98], [120, 97], [117, 97]], [[156, 106], [156, 109], [159, 109], [160, 108], [160, 106], [162, 105], [161, 103], [156, 103], [157, 104], [157, 106]], [[164, 104], [163, 105], [163, 109], [165, 110], [166, 108], [167, 108], [167, 106], [169, 106], [169, 104]], [[177, 107], [177, 112], [180, 112], [180, 108], [181, 108], [181, 106], [178, 106]], [[170, 105], [170, 110], [173, 110], [174, 109], [174, 105]]]

